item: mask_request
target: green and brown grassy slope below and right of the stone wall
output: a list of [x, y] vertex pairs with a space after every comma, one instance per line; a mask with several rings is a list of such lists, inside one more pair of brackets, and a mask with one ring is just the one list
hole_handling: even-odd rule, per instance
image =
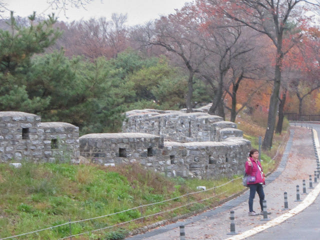
[[[257, 118], [257, 117], [256, 117]], [[258, 118], [256, 119], [258, 121]], [[251, 140], [257, 148], [259, 135], [263, 136], [263, 126], [243, 115], [237, 118], [238, 128], [244, 136]], [[275, 166], [271, 157], [278, 150], [281, 152], [287, 134], [274, 136], [274, 147], [262, 154], [264, 171]], [[238, 178], [238, 176], [234, 176]], [[237, 179], [223, 187], [219, 186], [230, 179], [185, 180], [182, 178], [166, 178], [160, 174], [143, 170], [138, 164], [116, 167], [97, 165], [71, 164], [22, 164], [21, 168], [13, 168], [8, 164], [0, 164], [0, 237], [30, 232], [71, 221], [83, 220], [97, 216], [88, 221], [71, 224], [72, 234], [107, 228], [91, 234], [84, 234], [77, 239], [121, 239], [129, 230], [172, 218], [181, 214], [194, 212], [217, 205], [220, 200], [243, 190], [241, 180]], [[136, 206], [163, 201], [186, 193], [195, 192], [196, 186], [205, 185], [211, 190], [175, 198], [159, 204]], [[202, 200], [206, 199], [207, 200]], [[189, 204], [186, 207], [176, 208]], [[135, 208], [119, 214], [114, 212]], [[172, 210], [173, 208], [176, 208]], [[168, 210], [168, 212], [165, 212]], [[139, 220], [110, 227], [119, 222], [128, 221], [141, 216]], [[125, 229], [125, 230], [124, 230]], [[69, 235], [69, 224], [21, 236], [18, 239], [57, 239]]]

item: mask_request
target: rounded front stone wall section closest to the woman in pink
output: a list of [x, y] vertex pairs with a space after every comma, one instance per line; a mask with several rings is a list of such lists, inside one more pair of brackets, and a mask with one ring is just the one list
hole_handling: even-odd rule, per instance
[[164, 142], [165, 166], [168, 176], [214, 179], [243, 174], [250, 142], [239, 137], [225, 141]]

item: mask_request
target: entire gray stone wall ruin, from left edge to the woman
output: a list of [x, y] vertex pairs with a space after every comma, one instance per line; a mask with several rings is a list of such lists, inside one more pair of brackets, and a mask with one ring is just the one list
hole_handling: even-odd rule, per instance
[[41, 122], [38, 115], [0, 112], [0, 161], [104, 165], [138, 162], [167, 176], [219, 178], [243, 173], [250, 142], [236, 124], [202, 109], [195, 112], [132, 110], [119, 133], [79, 137], [78, 127]]

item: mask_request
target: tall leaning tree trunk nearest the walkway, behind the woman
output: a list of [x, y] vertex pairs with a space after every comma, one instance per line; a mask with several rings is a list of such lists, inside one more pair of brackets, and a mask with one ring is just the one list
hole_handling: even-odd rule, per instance
[[[281, 42], [281, 39], [278, 39]], [[270, 96], [270, 103], [269, 103], [269, 113], [268, 113], [268, 122], [267, 127], [264, 134], [264, 139], [262, 142], [262, 149], [268, 150], [272, 146], [272, 138], [273, 132], [275, 127], [275, 119], [276, 119], [276, 108], [278, 104], [278, 97], [280, 91], [280, 83], [281, 83], [281, 66], [282, 66], [282, 59], [283, 53], [281, 52], [281, 45], [277, 46], [277, 57], [276, 57], [276, 64], [274, 70], [274, 80], [273, 80], [273, 89], [272, 94]]]

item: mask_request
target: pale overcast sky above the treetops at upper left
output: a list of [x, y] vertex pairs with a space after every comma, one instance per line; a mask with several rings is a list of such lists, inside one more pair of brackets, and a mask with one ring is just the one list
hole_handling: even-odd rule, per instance
[[[148, 20], [158, 18], [174, 12], [174, 8], [181, 8], [185, 2], [191, 0], [93, 0], [85, 7], [87, 10], [71, 8], [66, 11], [68, 20], [87, 20], [91, 17], [104, 16], [107, 20], [114, 13], [127, 13], [127, 24], [143, 24]], [[45, 15], [55, 11], [58, 20], [65, 21], [63, 12], [57, 12], [48, 8], [47, 0], [3, 0], [14, 15], [28, 16], [36, 11], [37, 14]], [[9, 16], [7, 12], [6, 16]]]

